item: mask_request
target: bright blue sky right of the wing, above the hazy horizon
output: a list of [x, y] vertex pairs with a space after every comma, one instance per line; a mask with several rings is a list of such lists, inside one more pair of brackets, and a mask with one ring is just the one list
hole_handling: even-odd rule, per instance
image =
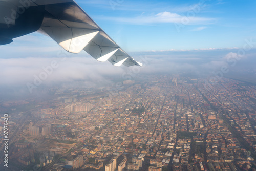
[[255, 1], [77, 3], [127, 51], [233, 48], [256, 37]]

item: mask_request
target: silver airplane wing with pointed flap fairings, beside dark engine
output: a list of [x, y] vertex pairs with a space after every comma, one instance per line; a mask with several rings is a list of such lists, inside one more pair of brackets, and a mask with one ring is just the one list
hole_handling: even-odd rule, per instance
[[45, 6], [39, 32], [46, 33], [71, 53], [84, 50], [96, 60], [114, 66], [142, 66], [122, 50], [79, 5], [72, 0], [33, 1]]

